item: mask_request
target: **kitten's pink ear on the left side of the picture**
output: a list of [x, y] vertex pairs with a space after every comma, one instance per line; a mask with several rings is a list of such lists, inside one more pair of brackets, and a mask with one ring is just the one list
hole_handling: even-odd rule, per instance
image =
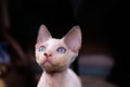
[[36, 47], [40, 44], [43, 44], [44, 41], [49, 40], [52, 38], [50, 32], [46, 27], [46, 25], [41, 25], [38, 32], [38, 37], [37, 37], [37, 44]]

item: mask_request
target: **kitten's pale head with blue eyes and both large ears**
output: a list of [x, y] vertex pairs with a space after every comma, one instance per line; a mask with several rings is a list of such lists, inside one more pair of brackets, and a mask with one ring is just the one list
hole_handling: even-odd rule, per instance
[[47, 72], [64, 71], [74, 62], [80, 48], [79, 26], [74, 26], [63, 38], [56, 39], [41, 25], [36, 42], [36, 61]]

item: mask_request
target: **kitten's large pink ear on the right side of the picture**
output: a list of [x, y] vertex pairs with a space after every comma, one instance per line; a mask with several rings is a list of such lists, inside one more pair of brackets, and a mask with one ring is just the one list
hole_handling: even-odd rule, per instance
[[64, 42], [73, 52], [78, 52], [81, 47], [81, 30], [80, 27], [74, 26], [66, 36], [64, 36]]

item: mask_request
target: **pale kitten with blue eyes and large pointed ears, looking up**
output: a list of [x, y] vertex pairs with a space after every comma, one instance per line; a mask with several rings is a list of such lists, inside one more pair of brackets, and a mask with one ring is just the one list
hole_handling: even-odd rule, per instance
[[81, 87], [79, 76], [69, 67], [81, 48], [81, 29], [74, 26], [63, 38], [52, 38], [41, 25], [36, 41], [36, 61], [43, 70], [37, 87]]

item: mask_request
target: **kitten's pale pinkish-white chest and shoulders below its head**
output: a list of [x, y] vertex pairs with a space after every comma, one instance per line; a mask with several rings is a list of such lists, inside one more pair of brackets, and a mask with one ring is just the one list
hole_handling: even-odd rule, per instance
[[72, 71], [50, 75], [43, 72], [37, 87], [81, 87], [80, 79]]

